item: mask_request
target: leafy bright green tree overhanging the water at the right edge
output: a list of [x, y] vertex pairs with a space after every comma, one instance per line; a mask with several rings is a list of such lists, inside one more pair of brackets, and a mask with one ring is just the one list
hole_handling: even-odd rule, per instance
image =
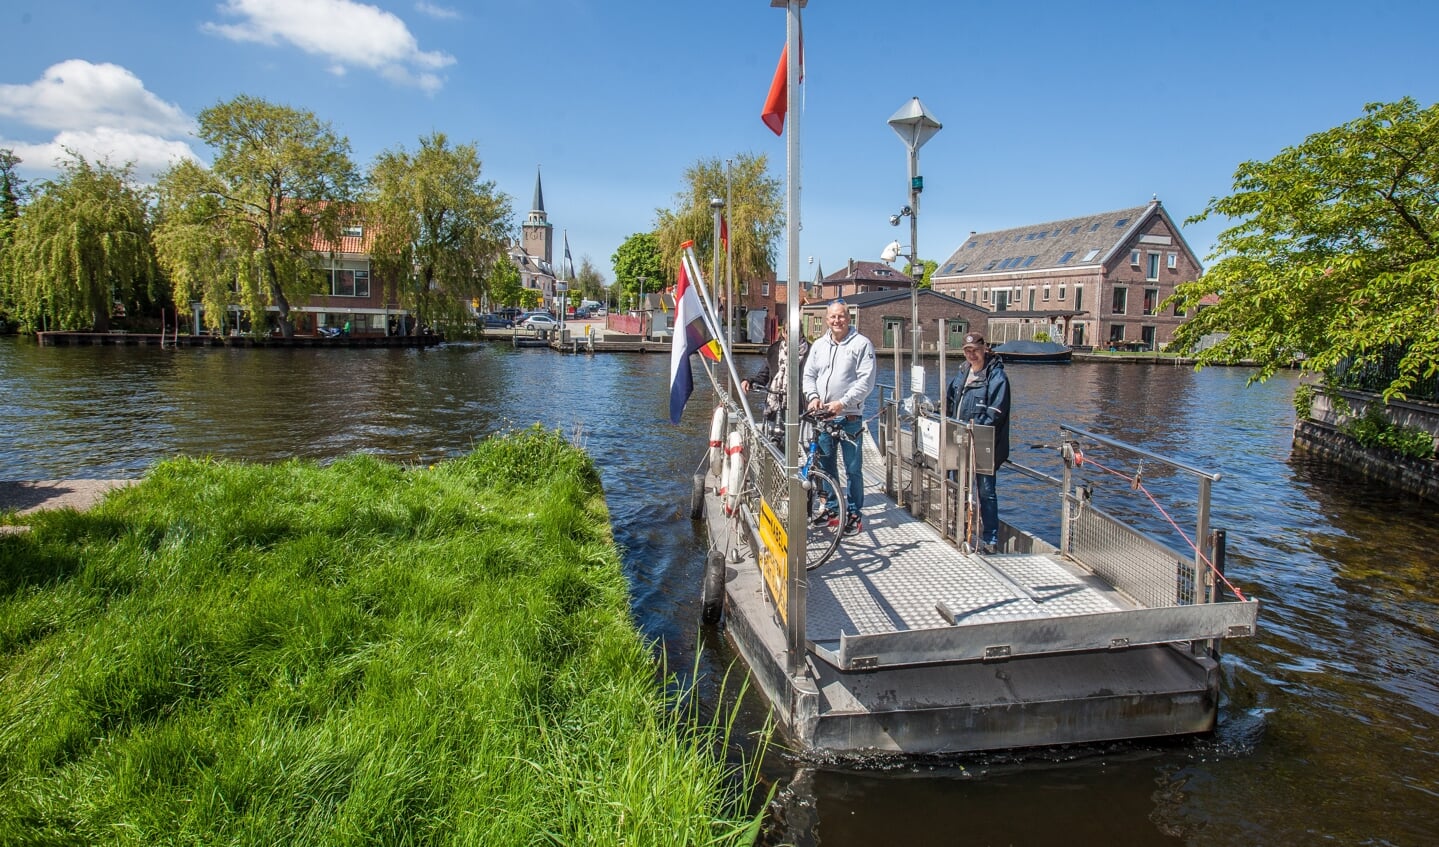
[[[1386, 397], [1439, 368], [1439, 105], [1409, 98], [1235, 173], [1235, 193], [1190, 223], [1238, 220], [1209, 273], [1163, 308], [1194, 313], [1176, 332], [1200, 365], [1253, 360], [1256, 380], [1299, 361], [1333, 372], [1345, 360], [1402, 349]], [[1204, 298], [1217, 305], [1200, 309]], [[1197, 311], [1197, 312], [1196, 312]]]

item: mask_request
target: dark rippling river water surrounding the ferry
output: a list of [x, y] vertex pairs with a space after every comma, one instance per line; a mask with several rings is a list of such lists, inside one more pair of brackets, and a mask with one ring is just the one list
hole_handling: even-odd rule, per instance
[[[718, 696], [732, 653], [696, 626], [705, 541], [688, 518], [709, 398], [696, 374], [685, 418], [671, 426], [668, 367], [668, 355], [504, 344], [161, 351], [3, 338], [0, 479], [138, 477], [178, 454], [366, 452], [425, 464], [495, 431], [560, 429], [600, 467], [639, 626], [669, 669], [688, 674], [702, 647], [701, 692]], [[1227, 531], [1230, 580], [1263, 608], [1255, 638], [1226, 644], [1219, 731], [868, 766], [774, 752], [764, 768], [778, 787], [768, 841], [1439, 843], [1433, 508], [1291, 454], [1292, 374], [1248, 387], [1249, 371], [1229, 368], [1009, 374], [1019, 462], [1056, 473], [1053, 452], [1033, 444], [1052, 443], [1063, 421], [1223, 475], [1212, 522]], [[894, 383], [888, 372], [881, 381]], [[1174, 480], [1156, 480], [1166, 486], [1183, 499]], [[1002, 475], [1002, 513], [1053, 539], [1058, 518], [1030, 502], [1043, 499], [1032, 487]], [[740, 708], [741, 731], [760, 726], [763, 702]]]

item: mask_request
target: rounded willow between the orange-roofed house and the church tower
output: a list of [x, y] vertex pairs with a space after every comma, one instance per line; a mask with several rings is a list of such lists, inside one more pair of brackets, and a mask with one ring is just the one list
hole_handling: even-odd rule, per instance
[[472, 144], [450, 147], [435, 132], [413, 154], [386, 151], [370, 188], [371, 256], [400, 306], [422, 321], [459, 321], [472, 299], [491, 295], [514, 221], [509, 198], [481, 180]]

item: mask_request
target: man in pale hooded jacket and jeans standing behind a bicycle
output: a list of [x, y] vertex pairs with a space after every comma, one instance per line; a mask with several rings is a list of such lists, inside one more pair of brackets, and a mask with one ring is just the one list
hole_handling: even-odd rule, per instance
[[[865, 505], [863, 457], [859, 454], [861, 431], [865, 429], [865, 400], [875, 390], [875, 345], [849, 325], [849, 306], [835, 301], [825, 309], [825, 324], [829, 332], [810, 345], [804, 360], [804, 407], [810, 411], [825, 411], [843, 417], [848, 440], [826, 433], [819, 436], [820, 470], [839, 479], [835, 449], [845, 457], [845, 535], [863, 529], [859, 509]], [[839, 492], [829, 492], [823, 515], [816, 519], [833, 519], [837, 513]]]

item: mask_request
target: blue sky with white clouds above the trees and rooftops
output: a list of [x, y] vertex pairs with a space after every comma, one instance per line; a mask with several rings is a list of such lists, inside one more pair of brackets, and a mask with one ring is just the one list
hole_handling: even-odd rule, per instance
[[[1432, 0], [876, 3], [804, 12], [803, 273], [878, 259], [908, 224], [888, 118], [920, 96], [944, 129], [920, 154], [920, 247], [970, 230], [1138, 206], [1177, 219], [1245, 160], [1358, 116], [1439, 99]], [[0, 147], [43, 178], [60, 145], [154, 173], [209, 161], [206, 106], [245, 93], [309, 109], [355, 162], [425, 134], [478, 147], [485, 175], [545, 209], [578, 260], [671, 207], [699, 158], [767, 154], [760, 122], [784, 13], [767, 0], [7, 0]], [[1222, 221], [1184, 229], [1203, 259]], [[780, 244], [783, 267], [784, 244]]]

